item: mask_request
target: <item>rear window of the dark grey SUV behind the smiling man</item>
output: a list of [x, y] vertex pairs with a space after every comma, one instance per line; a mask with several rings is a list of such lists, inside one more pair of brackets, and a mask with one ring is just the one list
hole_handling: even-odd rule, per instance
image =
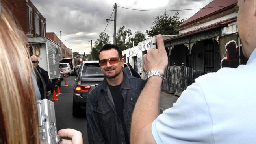
[[82, 76], [104, 77], [104, 74], [100, 70], [99, 63], [85, 63], [83, 66]]

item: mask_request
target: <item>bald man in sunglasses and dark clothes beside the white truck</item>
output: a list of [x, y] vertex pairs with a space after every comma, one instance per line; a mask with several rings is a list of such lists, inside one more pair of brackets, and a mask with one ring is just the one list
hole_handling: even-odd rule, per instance
[[36, 68], [36, 74], [37, 74], [37, 85], [41, 94], [41, 99], [47, 98], [47, 92], [52, 89], [52, 83], [49, 79], [48, 72], [45, 71], [43, 68], [41, 68], [38, 64], [38, 58], [35, 55], [32, 55], [30, 57], [33, 65]]

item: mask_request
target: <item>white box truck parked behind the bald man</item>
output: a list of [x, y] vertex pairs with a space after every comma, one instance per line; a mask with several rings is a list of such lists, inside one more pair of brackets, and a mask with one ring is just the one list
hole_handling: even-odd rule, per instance
[[39, 66], [48, 72], [52, 82], [52, 88], [55, 85], [61, 86], [61, 73], [59, 63], [61, 61], [60, 46], [47, 37], [28, 37], [30, 53], [37, 56]]

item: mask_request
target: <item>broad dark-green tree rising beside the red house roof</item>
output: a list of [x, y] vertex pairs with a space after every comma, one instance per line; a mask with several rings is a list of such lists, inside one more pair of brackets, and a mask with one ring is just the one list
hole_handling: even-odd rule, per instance
[[172, 17], [165, 11], [163, 15], [154, 17], [153, 26], [151, 30], [146, 30], [148, 36], [153, 37], [155, 35], [178, 35], [179, 32], [175, 30], [175, 27], [179, 26], [185, 20], [180, 20], [179, 13], [175, 13]]

